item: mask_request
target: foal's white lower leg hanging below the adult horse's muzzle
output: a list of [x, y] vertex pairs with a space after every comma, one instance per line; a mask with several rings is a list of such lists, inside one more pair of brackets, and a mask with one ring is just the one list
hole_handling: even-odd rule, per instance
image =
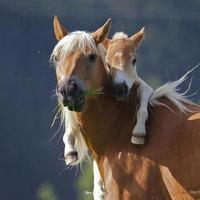
[[72, 165], [78, 160], [78, 153], [74, 147], [75, 144], [75, 130], [67, 127], [63, 135], [63, 142], [65, 144], [64, 158], [67, 165]]

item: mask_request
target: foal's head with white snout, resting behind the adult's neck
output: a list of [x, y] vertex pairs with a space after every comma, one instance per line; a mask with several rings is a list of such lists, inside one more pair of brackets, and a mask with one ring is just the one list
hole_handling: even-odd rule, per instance
[[144, 38], [144, 28], [132, 37], [116, 33], [108, 43], [106, 62], [113, 81], [113, 93], [117, 100], [125, 100], [137, 78], [136, 50]]

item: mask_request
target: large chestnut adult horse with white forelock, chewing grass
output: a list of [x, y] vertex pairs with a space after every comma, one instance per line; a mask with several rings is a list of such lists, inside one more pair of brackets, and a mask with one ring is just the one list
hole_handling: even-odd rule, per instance
[[[198, 199], [200, 108], [176, 92], [185, 76], [155, 91], [149, 105], [149, 139], [142, 147], [131, 144], [139, 104], [137, 83], [127, 102], [113, 99], [100, 45], [109, 28], [108, 21], [92, 34], [68, 33], [57, 23], [60, 42], [52, 54], [57, 91], [65, 106], [77, 111], [71, 114], [98, 164], [105, 199]], [[103, 95], [83, 96], [84, 91], [100, 87]]]

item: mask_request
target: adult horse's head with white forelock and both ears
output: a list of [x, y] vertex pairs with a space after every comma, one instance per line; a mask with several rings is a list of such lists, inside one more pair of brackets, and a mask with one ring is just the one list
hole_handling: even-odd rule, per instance
[[52, 53], [58, 81], [56, 91], [69, 110], [81, 111], [84, 93], [101, 87], [99, 71], [103, 62], [98, 45], [107, 37], [110, 26], [109, 19], [91, 34], [84, 31], [68, 33], [58, 17], [54, 18], [54, 32], [59, 41]]

